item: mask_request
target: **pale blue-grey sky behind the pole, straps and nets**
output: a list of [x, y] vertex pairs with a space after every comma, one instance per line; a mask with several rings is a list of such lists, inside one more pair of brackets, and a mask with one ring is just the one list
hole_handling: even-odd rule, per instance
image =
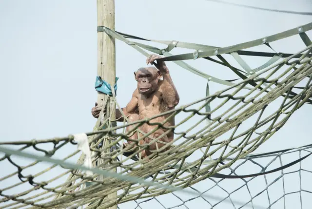
[[[270, 9], [312, 11], [311, 0], [232, 2]], [[116, 0], [117, 31], [157, 40], [226, 47], [309, 22], [312, 22], [311, 16], [259, 11], [205, 0]], [[45, 139], [92, 131], [96, 119], [91, 115], [91, 108], [97, 101], [94, 89], [97, 76], [96, 1], [0, 0], [0, 31], [0, 141]], [[311, 31], [307, 35], [312, 39]], [[305, 48], [299, 36], [273, 42], [271, 46], [283, 53], [296, 53]], [[272, 52], [265, 46], [250, 50]], [[186, 52], [190, 51], [175, 49], [172, 53]], [[243, 58], [252, 68], [268, 60], [262, 57]], [[145, 59], [132, 47], [116, 41], [117, 100], [120, 106], [124, 107], [130, 100], [136, 88], [133, 72], [146, 66]], [[228, 60], [238, 67], [234, 59]], [[218, 78], [237, 78], [228, 68], [207, 60], [189, 60], [187, 63]], [[205, 96], [204, 78], [174, 63], [169, 62], [167, 66], [180, 95], [179, 106]], [[222, 88], [226, 86], [211, 83], [210, 91], [215, 93]], [[272, 110], [276, 110], [277, 105]], [[296, 111], [286, 125], [255, 152], [310, 144], [311, 108], [304, 105]], [[184, 117], [182, 115], [176, 120]], [[77, 148], [71, 145], [66, 149], [66, 152], [74, 152]], [[0, 166], [7, 168], [0, 177], [15, 171], [4, 162], [0, 162]], [[254, 172], [258, 171], [246, 168], [239, 174]], [[51, 176], [57, 174], [50, 173]], [[289, 182], [298, 185], [297, 179]], [[0, 182], [0, 190], [8, 184], [11, 183]], [[16, 191], [12, 190], [12, 193]], [[200, 204], [194, 202], [188, 207], [202, 207]], [[261, 205], [261, 201], [257, 204]], [[135, 208], [135, 204], [133, 206]]]

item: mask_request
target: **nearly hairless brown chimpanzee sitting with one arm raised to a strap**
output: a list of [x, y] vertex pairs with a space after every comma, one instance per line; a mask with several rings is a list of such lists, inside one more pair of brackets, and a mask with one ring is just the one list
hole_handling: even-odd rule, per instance
[[[164, 62], [155, 63], [154, 61], [160, 58], [159, 56], [152, 55], [148, 57], [146, 63], [155, 64], [155, 67], [146, 67], [140, 68], [135, 72], [135, 79], [137, 81], [137, 89], [132, 94], [132, 98], [130, 102], [127, 104], [125, 108], [122, 108], [123, 113], [128, 117], [128, 119], [133, 122], [144, 118], [150, 118], [157, 114], [164, 113], [166, 111], [172, 110], [179, 103], [179, 95], [176, 91], [176, 87], [171, 79], [169, 74], [169, 70]], [[161, 77], [163, 78], [161, 80]], [[98, 117], [99, 112], [101, 110], [101, 106], [97, 106], [92, 108], [92, 114], [94, 117]], [[153, 122], [163, 122], [169, 115], [159, 116], [150, 120]], [[119, 118], [118, 121], [123, 121], [122, 114], [119, 110], [116, 110], [116, 118]], [[165, 127], [174, 126], [175, 118], [172, 117], [167, 123], [164, 124]], [[133, 125], [127, 127], [126, 131], [129, 132], [134, 128]], [[143, 124], [139, 127], [144, 133], [148, 133], [153, 130], [155, 126], [151, 126], [148, 124]], [[156, 132], [152, 133], [150, 136], [153, 138], [157, 138], [167, 130], [158, 129]], [[139, 137], [142, 136], [139, 133]], [[137, 132], [130, 137], [130, 139], [137, 139]], [[166, 143], [172, 141], [174, 138], [174, 133], [170, 132], [167, 135], [163, 136], [160, 141], [164, 141]], [[146, 137], [142, 139], [139, 143], [142, 145], [144, 143], [150, 143], [150, 138]], [[129, 141], [129, 143], [131, 143]], [[127, 147], [129, 144], [126, 143], [123, 146]], [[157, 143], [158, 149], [163, 147], [164, 144]], [[149, 156], [153, 151], [156, 150], [156, 143], [149, 146], [148, 149], [142, 151], [142, 158]], [[166, 149], [167, 150], [167, 149]]]

